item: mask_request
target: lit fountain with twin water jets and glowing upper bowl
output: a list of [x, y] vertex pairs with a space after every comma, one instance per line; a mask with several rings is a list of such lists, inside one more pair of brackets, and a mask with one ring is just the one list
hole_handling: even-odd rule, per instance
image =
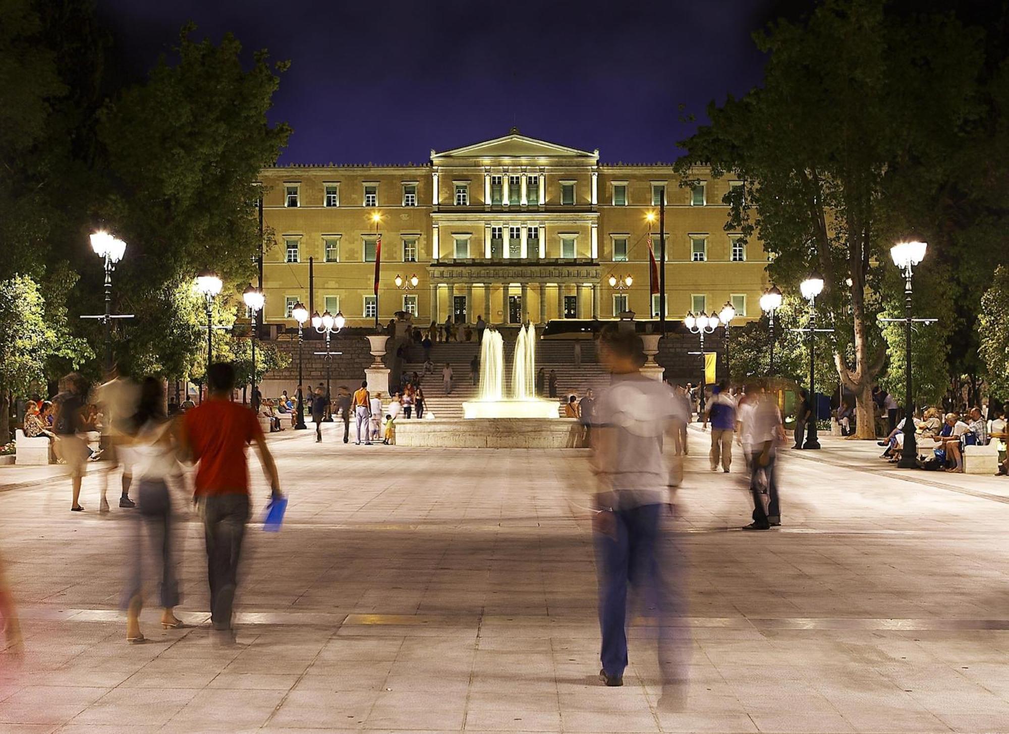
[[536, 328], [519, 330], [512, 361], [512, 397], [504, 398], [504, 340], [488, 329], [480, 343], [479, 396], [462, 403], [466, 418], [556, 418], [557, 401], [536, 396]]

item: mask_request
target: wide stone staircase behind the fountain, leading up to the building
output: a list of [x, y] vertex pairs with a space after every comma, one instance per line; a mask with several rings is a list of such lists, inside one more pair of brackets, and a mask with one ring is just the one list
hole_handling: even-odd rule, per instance
[[[425, 411], [434, 413], [436, 418], [463, 417], [462, 403], [475, 400], [478, 387], [473, 384], [469, 373], [469, 362], [473, 355], [478, 354], [479, 345], [475, 342], [439, 342], [431, 349], [431, 361], [435, 364], [433, 374], [424, 374], [424, 351], [419, 346], [410, 349], [409, 359], [404, 366], [406, 374], [417, 372], [421, 375], [421, 385], [424, 388]], [[515, 343], [504, 343], [504, 394], [512, 391], [512, 358], [515, 354]], [[454, 373], [451, 394], [446, 395], [442, 384], [441, 371], [445, 363], [452, 365]], [[591, 341], [582, 341], [581, 366], [574, 366], [573, 340], [538, 340], [536, 352], [537, 370], [543, 367], [546, 374], [550, 370], [557, 373], [557, 411], [564, 414], [564, 398], [568, 394], [581, 397], [587, 388], [596, 393], [609, 384], [609, 373], [596, 361], [595, 346]], [[544, 389], [547, 390], [547, 381]], [[543, 395], [546, 397], [546, 394]]]

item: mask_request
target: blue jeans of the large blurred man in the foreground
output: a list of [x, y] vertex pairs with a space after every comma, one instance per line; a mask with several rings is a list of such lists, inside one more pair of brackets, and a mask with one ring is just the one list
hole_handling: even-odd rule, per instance
[[662, 530], [668, 505], [649, 504], [611, 512], [614, 536], [596, 531], [599, 577], [599, 658], [609, 676], [623, 676], [628, 664], [628, 587], [637, 592], [644, 616], [658, 627], [659, 667], [663, 682], [682, 679], [687, 628], [674, 626], [681, 616], [675, 574], [683, 568], [672, 538]]

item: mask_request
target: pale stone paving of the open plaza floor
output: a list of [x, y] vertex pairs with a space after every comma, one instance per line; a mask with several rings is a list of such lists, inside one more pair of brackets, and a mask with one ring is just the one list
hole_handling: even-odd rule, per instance
[[177, 610], [194, 626], [145, 609], [149, 641], [129, 645], [136, 548], [130, 511], [96, 511], [101, 465], [84, 514], [59, 467], [0, 468], [25, 634], [23, 659], [0, 653], [0, 731], [1009, 731], [1009, 480], [903, 473], [825, 439], [786, 452], [784, 525], [748, 533], [742, 463], [711, 473], [691, 430], [675, 523], [690, 687], [666, 711], [647, 625], [624, 688], [596, 678], [585, 452], [327, 429], [322, 446], [269, 440], [291, 504], [279, 533], [249, 530], [235, 646], [210, 639], [195, 517]]

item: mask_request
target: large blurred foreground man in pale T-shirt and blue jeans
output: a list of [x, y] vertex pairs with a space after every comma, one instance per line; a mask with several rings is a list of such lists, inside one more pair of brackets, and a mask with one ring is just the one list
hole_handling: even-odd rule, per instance
[[658, 615], [659, 666], [665, 708], [683, 696], [685, 627], [674, 626], [683, 614], [675, 574], [685, 564], [676, 558], [667, 531], [672, 517], [671, 468], [663, 457], [663, 437], [673, 431], [679, 403], [664, 382], [640, 372], [645, 363], [641, 337], [603, 329], [600, 356], [612, 373], [609, 389], [595, 403], [592, 469], [598, 486], [592, 520], [599, 574], [599, 626], [602, 634], [599, 678], [622, 686], [628, 664], [628, 586], [648, 600]]

